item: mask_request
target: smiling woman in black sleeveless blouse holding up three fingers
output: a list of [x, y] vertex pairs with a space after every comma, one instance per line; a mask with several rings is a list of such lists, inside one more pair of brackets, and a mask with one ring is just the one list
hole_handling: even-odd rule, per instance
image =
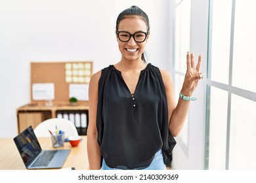
[[[168, 134], [177, 136], [200, 80], [199, 56], [187, 53], [187, 71], [178, 104], [166, 71], [146, 63], [148, 16], [139, 7], [117, 17], [121, 60], [98, 71], [89, 84], [87, 149], [90, 169], [166, 169]], [[169, 133], [171, 132], [171, 133]]]

